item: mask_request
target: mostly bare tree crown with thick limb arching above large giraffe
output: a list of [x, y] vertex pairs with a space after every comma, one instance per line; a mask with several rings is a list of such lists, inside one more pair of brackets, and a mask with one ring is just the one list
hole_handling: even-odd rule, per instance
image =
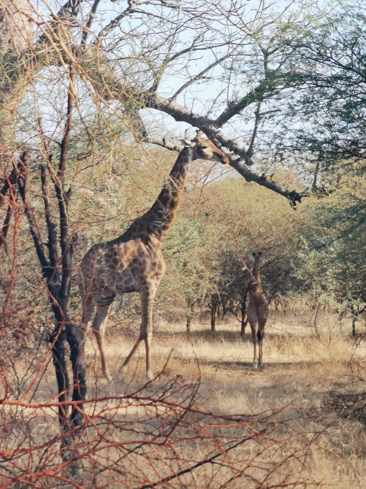
[[[129, 1], [109, 22], [98, 17], [99, 6], [96, 1], [91, 11], [84, 13], [80, 0], [69, 1], [58, 14], [49, 12], [48, 17], [30, 12], [29, 6], [22, 10], [23, 23], [37, 24], [38, 28], [25, 31], [29, 40], [26, 49], [24, 43], [16, 43], [2, 59], [5, 83], [0, 91], [6, 97], [2, 110], [7, 115], [29, 86], [29, 66], [36, 74], [45, 64], [60, 66], [73, 60], [92, 96], [104, 107], [114, 100], [113, 110], [131, 119], [130, 127], [140, 139], [179, 149], [165, 134], [161, 137], [156, 130], [149, 132], [152, 118], [142, 109], [166, 114], [176, 122], [201, 129], [226, 148], [231, 166], [247, 181], [285, 196], [294, 205], [301, 200], [300, 193], [288, 191], [247, 167], [254, 162], [260, 127], [277, 111], [267, 110], [266, 105], [286, 88], [295, 48], [284, 32], [290, 32], [286, 26], [305, 16], [296, 2], [290, 1], [284, 12], [276, 13], [264, 2], [253, 12], [245, 2], [236, 1], [227, 6]], [[290, 6], [297, 7], [296, 14], [286, 13]], [[15, 30], [23, 39], [24, 29], [14, 27], [16, 8], [11, 1], [3, 4], [5, 24], [10, 22], [13, 34]], [[112, 9], [107, 12], [112, 17]], [[226, 29], [221, 28], [223, 24]], [[148, 31], [144, 25], [149, 26]], [[97, 27], [93, 30], [93, 26]], [[296, 36], [299, 33], [292, 31], [292, 37]], [[200, 68], [197, 55], [201, 57]], [[166, 83], [172, 84], [169, 94], [163, 89]], [[195, 95], [203, 87], [207, 94], [207, 85], [213, 96]], [[253, 111], [254, 117], [250, 115]], [[248, 132], [243, 130], [243, 123], [249, 116], [252, 127]], [[240, 142], [225, 135], [232, 123]]]

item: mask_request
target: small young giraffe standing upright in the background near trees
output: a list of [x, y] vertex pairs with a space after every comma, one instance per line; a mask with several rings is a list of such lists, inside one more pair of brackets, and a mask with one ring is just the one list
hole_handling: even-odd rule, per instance
[[[245, 325], [249, 323], [250, 329], [252, 330], [253, 346], [254, 346], [254, 357], [253, 357], [253, 368], [256, 369], [258, 365], [263, 366], [262, 362], [262, 346], [264, 338], [264, 326], [268, 317], [268, 305], [265, 300], [265, 295], [263, 293], [261, 285], [261, 266], [260, 258], [262, 253], [253, 253], [254, 256], [254, 269], [253, 275], [257, 283], [252, 284], [249, 289], [249, 301], [248, 309], [246, 312]], [[245, 328], [244, 325], [244, 328]], [[257, 330], [258, 325], [258, 330]], [[257, 331], [256, 331], [257, 330]], [[259, 347], [259, 356], [257, 358], [257, 339]]]

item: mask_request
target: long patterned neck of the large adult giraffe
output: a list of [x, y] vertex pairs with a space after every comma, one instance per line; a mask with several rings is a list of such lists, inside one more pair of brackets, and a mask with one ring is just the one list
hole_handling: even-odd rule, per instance
[[160, 241], [164, 241], [177, 215], [193, 160], [191, 148], [184, 148], [175, 162], [157, 200], [145, 214]]

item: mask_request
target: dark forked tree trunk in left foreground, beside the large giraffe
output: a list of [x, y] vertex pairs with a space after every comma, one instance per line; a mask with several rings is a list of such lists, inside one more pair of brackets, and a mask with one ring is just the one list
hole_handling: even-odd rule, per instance
[[[74, 80], [74, 73], [70, 70], [70, 84]], [[65, 123], [64, 136], [61, 143], [60, 164], [57, 178], [53, 178], [55, 168], [52, 165], [48, 140], [41, 130], [41, 137], [45, 152], [46, 164], [41, 165], [41, 195], [44, 201], [44, 218], [48, 234], [48, 241], [45, 243], [39, 228], [39, 222], [35, 217], [35, 212], [29, 199], [29, 153], [24, 152], [18, 164], [18, 189], [24, 206], [24, 213], [28, 220], [29, 230], [33, 238], [35, 250], [40, 261], [42, 276], [46, 282], [49, 296], [52, 302], [52, 311], [55, 315], [55, 329], [51, 337], [52, 353], [56, 372], [56, 379], [59, 388], [59, 420], [63, 430], [61, 441], [62, 448], [67, 448], [61, 453], [63, 461], [68, 461], [73, 457], [73, 450], [70, 445], [73, 443], [72, 430], [74, 427], [81, 427], [83, 422], [83, 400], [86, 396], [85, 367], [83, 361], [84, 351], [84, 332], [82, 328], [73, 323], [67, 312], [69, 292], [72, 278], [72, 257], [74, 253], [74, 243], [77, 234], [70, 236], [68, 204], [71, 196], [71, 188], [65, 192], [63, 176], [67, 157], [67, 148], [71, 129], [71, 111], [73, 107], [72, 93], [69, 91], [67, 104], [67, 119]], [[41, 120], [39, 121], [41, 127]], [[55, 193], [59, 203], [60, 225], [57, 225], [53, 214], [50, 191], [47, 181], [47, 170], [51, 179], [53, 178]], [[9, 184], [9, 188], [10, 188]], [[59, 237], [58, 237], [59, 227]], [[58, 242], [60, 252], [58, 252]], [[60, 267], [61, 264], [61, 267]], [[69, 389], [69, 378], [66, 364], [65, 340], [70, 346], [70, 359], [73, 370], [73, 394], [72, 400], [76, 401], [72, 405], [70, 418], [68, 417], [67, 391]], [[70, 464], [72, 473], [78, 470], [78, 461]]]

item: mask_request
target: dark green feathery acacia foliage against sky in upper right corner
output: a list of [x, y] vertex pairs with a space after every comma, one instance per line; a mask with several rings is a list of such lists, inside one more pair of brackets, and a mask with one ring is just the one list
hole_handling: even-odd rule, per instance
[[358, 2], [336, 2], [294, 51], [298, 90], [289, 94], [285, 115], [292, 121], [277, 133], [282, 148], [277, 144], [282, 152], [313, 155], [315, 183], [335, 181], [342, 167], [365, 169], [365, 24]]

